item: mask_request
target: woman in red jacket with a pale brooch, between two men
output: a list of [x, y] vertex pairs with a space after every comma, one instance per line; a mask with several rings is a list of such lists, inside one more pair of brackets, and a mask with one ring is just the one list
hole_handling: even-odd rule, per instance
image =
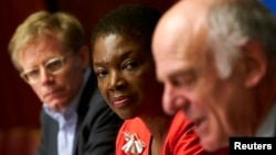
[[117, 135], [116, 155], [206, 154], [183, 113], [167, 115], [162, 110], [163, 86], [156, 79], [150, 46], [160, 15], [147, 5], [123, 5], [107, 13], [93, 31], [92, 58], [99, 90], [126, 120]]

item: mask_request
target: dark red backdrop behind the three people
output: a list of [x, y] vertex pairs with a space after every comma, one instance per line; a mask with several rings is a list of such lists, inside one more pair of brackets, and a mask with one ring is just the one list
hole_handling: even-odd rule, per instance
[[39, 10], [78, 18], [89, 40], [93, 26], [110, 9], [142, 2], [161, 12], [177, 0], [0, 0], [0, 155], [31, 155], [39, 142], [41, 101], [13, 68], [8, 43], [15, 27]]

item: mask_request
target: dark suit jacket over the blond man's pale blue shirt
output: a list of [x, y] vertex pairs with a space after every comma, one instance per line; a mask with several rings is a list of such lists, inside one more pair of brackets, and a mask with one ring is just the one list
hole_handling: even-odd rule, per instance
[[[74, 155], [114, 155], [123, 123], [100, 96], [95, 76], [89, 77], [78, 104]], [[36, 155], [57, 155], [59, 123], [42, 110], [41, 142]]]

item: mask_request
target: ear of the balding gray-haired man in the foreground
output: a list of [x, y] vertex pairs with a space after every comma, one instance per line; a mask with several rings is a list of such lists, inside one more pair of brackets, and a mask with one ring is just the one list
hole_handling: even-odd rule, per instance
[[259, 43], [250, 41], [242, 46], [242, 51], [245, 67], [245, 86], [255, 87], [267, 71], [265, 49]]

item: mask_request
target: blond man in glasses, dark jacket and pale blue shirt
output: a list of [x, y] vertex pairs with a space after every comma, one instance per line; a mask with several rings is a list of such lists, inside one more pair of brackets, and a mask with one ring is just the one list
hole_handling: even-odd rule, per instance
[[38, 155], [114, 155], [121, 120], [100, 96], [83, 26], [39, 11], [15, 30], [9, 54], [43, 102]]

